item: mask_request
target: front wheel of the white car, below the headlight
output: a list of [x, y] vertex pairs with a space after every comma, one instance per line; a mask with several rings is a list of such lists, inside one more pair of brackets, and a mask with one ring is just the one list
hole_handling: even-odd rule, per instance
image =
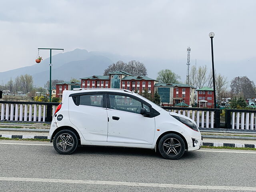
[[184, 140], [172, 133], [164, 135], [158, 143], [158, 151], [166, 159], [176, 160], [181, 158], [185, 148]]

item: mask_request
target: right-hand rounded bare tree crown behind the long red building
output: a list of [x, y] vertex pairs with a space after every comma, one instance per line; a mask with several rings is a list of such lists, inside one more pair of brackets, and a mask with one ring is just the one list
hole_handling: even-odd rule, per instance
[[134, 76], [146, 76], [148, 74], [146, 66], [143, 63], [135, 60], [128, 62], [126, 72]]

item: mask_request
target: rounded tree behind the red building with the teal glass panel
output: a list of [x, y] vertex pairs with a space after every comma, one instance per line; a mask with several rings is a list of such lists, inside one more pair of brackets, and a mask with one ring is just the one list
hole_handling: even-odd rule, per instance
[[180, 79], [180, 76], [170, 69], [160, 70], [156, 78], [161, 83], [179, 83], [178, 79]]

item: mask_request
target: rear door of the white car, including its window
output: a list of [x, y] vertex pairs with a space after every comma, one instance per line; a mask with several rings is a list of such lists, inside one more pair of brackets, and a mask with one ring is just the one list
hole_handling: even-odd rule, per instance
[[105, 93], [73, 94], [69, 98], [69, 118], [87, 141], [107, 141], [108, 117]]

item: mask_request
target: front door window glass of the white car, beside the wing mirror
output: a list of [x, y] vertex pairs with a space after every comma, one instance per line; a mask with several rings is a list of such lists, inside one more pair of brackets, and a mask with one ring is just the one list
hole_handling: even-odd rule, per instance
[[150, 108], [148, 106], [128, 96], [109, 95], [109, 101], [109, 107], [111, 109], [140, 114], [141, 108], [144, 107], [147, 112], [150, 112]]

